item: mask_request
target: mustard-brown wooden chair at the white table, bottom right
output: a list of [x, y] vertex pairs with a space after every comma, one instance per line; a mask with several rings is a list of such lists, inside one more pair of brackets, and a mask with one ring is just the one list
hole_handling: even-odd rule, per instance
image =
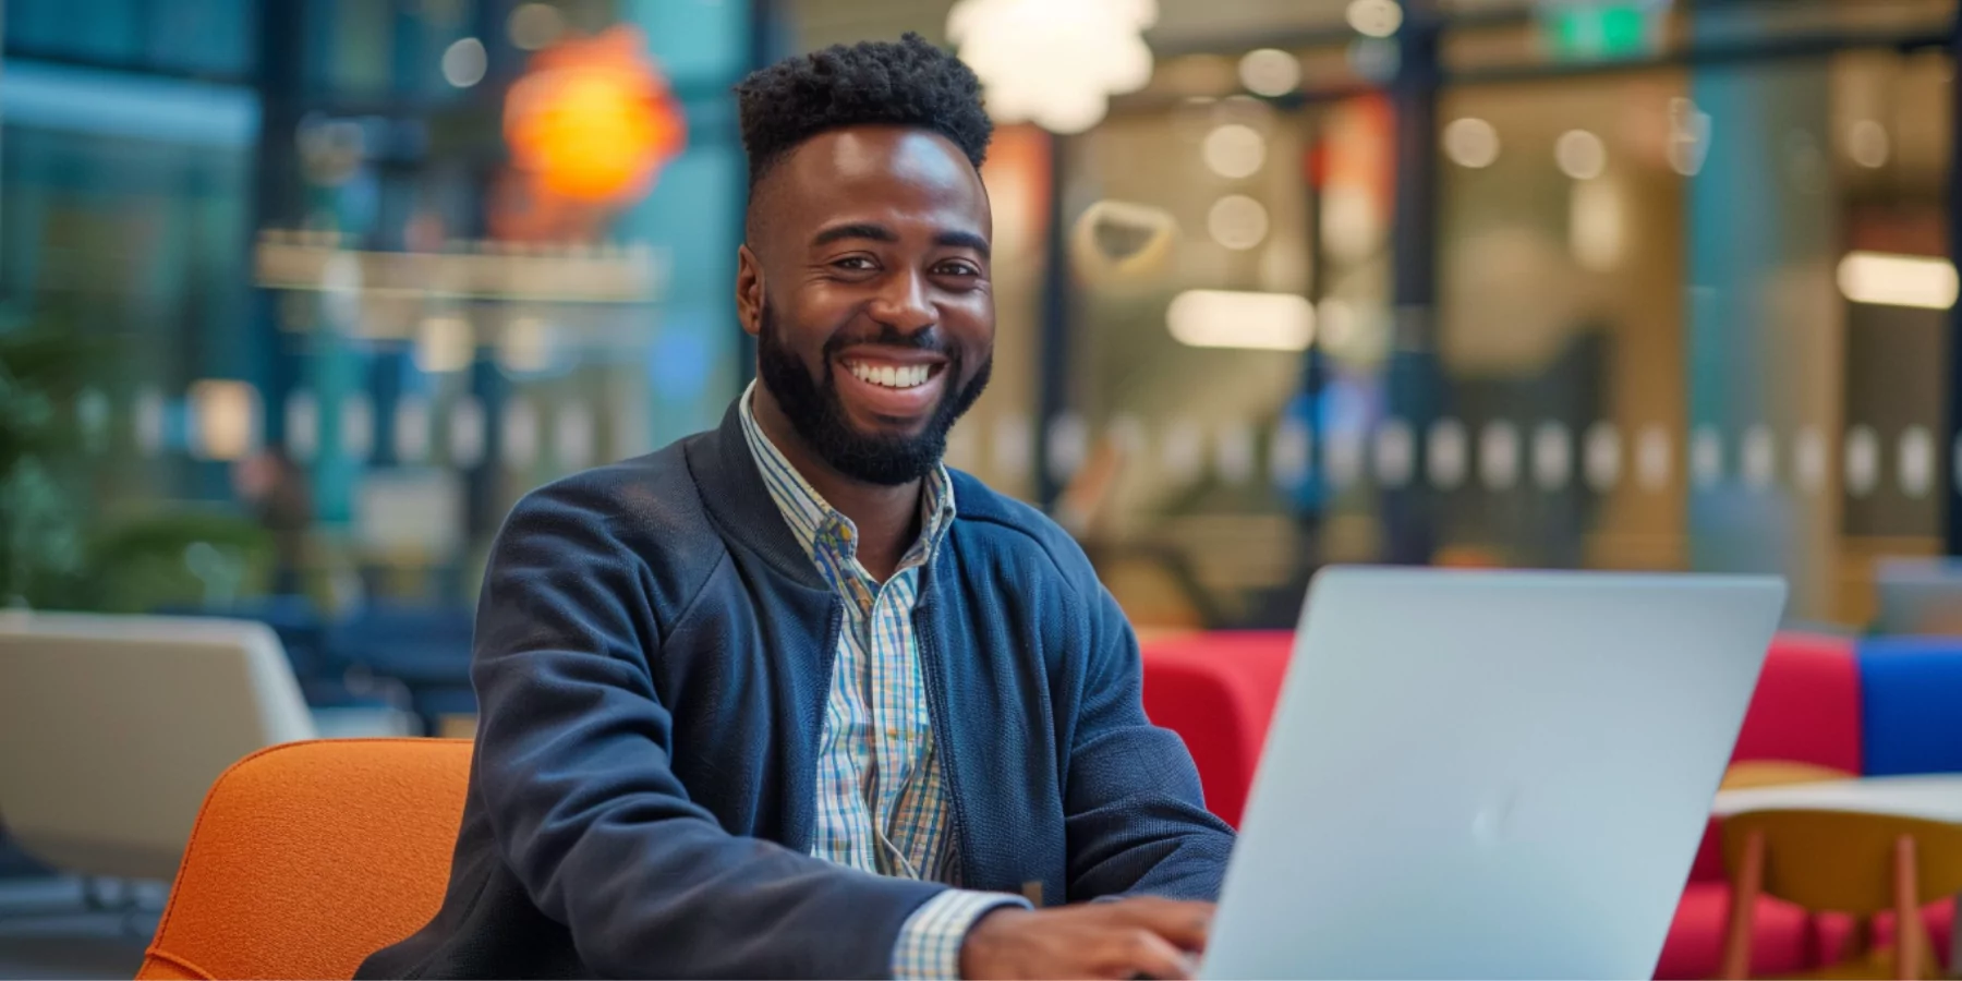
[[1723, 846], [1734, 901], [1721, 977], [1750, 975], [1760, 895], [1862, 922], [1893, 910], [1891, 952], [1868, 952], [1807, 977], [1935, 977], [1921, 908], [1962, 891], [1962, 826], [1844, 810], [1758, 810], [1725, 818]]

